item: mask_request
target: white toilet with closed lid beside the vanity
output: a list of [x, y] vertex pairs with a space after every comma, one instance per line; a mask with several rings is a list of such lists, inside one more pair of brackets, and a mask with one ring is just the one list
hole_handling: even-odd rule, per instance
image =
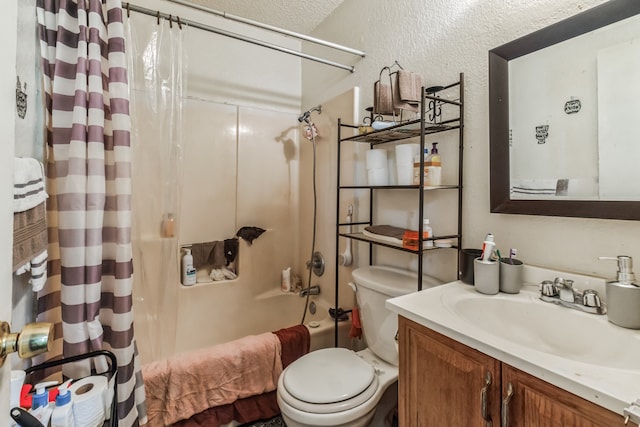
[[[389, 298], [417, 291], [417, 275], [393, 267], [353, 271], [362, 333], [368, 348], [313, 351], [291, 363], [278, 379], [278, 405], [288, 427], [368, 426], [390, 385], [398, 379], [397, 316]], [[422, 287], [441, 284], [423, 276]]]

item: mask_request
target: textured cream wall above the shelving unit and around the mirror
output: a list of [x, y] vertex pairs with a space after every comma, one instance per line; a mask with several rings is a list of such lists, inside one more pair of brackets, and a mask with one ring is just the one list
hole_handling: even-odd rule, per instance
[[[640, 259], [640, 222], [489, 212], [488, 50], [600, 3], [603, 1], [345, 2], [313, 35], [362, 49], [367, 57], [357, 61], [333, 54], [333, 59], [354, 63], [353, 74], [304, 62], [303, 105], [320, 103], [353, 85], [361, 86], [363, 108], [371, 105], [371, 87], [380, 68], [394, 60], [421, 73], [426, 85], [453, 81], [464, 72], [464, 246], [478, 247], [486, 233], [492, 232], [499, 247], [517, 248], [527, 263], [615, 275], [615, 266], [597, 257], [626, 254]], [[311, 46], [306, 49], [319, 51]]]

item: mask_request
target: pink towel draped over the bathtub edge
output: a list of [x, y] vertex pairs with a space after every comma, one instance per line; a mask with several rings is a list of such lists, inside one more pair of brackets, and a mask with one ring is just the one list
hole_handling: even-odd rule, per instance
[[142, 367], [149, 426], [276, 389], [282, 347], [271, 332], [176, 355]]

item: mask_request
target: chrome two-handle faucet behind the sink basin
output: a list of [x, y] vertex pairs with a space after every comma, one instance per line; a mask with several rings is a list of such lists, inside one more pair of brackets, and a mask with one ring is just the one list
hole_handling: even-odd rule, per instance
[[580, 292], [573, 287], [573, 280], [562, 277], [556, 277], [553, 282], [545, 280], [540, 283], [540, 299], [585, 313], [605, 314], [607, 312], [596, 291], [587, 289]]

